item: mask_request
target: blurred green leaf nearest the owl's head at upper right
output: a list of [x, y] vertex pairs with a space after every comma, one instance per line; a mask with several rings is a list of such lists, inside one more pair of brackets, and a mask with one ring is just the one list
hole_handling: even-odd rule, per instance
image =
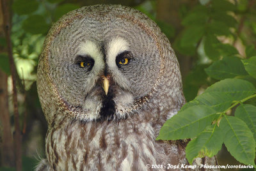
[[190, 26], [184, 30], [180, 44], [184, 47], [193, 45], [195, 46], [203, 35], [204, 26]]

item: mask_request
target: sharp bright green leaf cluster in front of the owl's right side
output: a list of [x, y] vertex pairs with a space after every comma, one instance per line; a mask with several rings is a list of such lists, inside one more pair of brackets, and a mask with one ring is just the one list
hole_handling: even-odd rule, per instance
[[[226, 113], [237, 104], [256, 97], [255, 93], [255, 87], [246, 80], [228, 78], [216, 82], [208, 87], [205, 93], [186, 103], [177, 115], [166, 121], [156, 140], [196, 137], [186, 147], [189, 163], [196, 157], [214, 156], [224, 143], [230, 154], [238, 161], [254, 165], [253, 133], [256, 126], [256, 107], [239, 107], [236, 117], [227, 116]], [[247, 114], [247, 117], [242, 116], [244, 114]], [[221, 131], [218, 128], [219, 123]]]

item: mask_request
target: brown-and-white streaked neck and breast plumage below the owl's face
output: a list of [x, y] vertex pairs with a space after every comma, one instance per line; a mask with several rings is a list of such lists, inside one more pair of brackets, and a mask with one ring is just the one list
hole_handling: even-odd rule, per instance
[[147, 117], [151, 114], [90, 123], [56, 117], [60, 122], [52, 124], [46, 138], [49, 165], [54, 170], [138, 170], [145, 162], [157, 163], [155, 138], [161, 126]]

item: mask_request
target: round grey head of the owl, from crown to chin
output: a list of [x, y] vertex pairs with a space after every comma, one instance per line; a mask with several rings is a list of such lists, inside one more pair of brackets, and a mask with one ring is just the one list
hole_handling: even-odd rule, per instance
[[146, 15], [120, 5], [61, 17], [45, 39], [37, 85], [48, 123], [56, 113], [99, 121], [184, 103], [168, 39]]

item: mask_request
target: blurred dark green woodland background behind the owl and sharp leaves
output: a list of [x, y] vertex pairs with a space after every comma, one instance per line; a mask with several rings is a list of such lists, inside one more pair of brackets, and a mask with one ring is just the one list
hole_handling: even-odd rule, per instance
[[[47, 31], [68, 11], [92, 4], [122, 4], [147, 14], [161, 27], [175, 50], [187, 101], [193, 100], [205, 88], [221, 79], [222, 75], [216, 75], [215, 71], [205, 73], [205, 68], [212, 63], [226, 56], [241, 59], [256, 56], [255, 0], [13, 0], [10, 3], [11, 39], [18, 75], [17, 97], [22, 130], [22, 170], [34, 170], [38, 160], [45, 158], [47, 123], [36, 93], [36, 68]], [[3, 13], [0, 15], [3, 26]], [[244, 79], [254, 85], [256, 83], [254, 78]], [[8, 96], [0, 96], [0, 112], [10, 115], [8, 118], [1, 117], [0, 121], [0, 170], [15, 170], [13, 149], [3, 148], [13, 143], [14, 119], [12, 81], [2, 27], [0, 82], [0, 90], [6, 91]], [[0, 94], [3, 94], [1, 91]], [[8, 106], [4, 102], [6, 100]], [[6, 123], [10, 123], [10, 129], [4, 126]], [[10, 136], [4, 138], [6, 135]], [[218, 161], [220, 165], [239, 165], [225, 147], [219, 152]]]

